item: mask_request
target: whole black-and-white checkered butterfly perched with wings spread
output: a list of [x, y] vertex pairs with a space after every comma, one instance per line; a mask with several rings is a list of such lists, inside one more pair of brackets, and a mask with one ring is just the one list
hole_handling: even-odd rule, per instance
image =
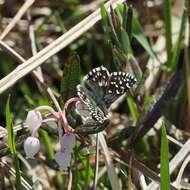
[[101, 66], [92, 69], [81, 84], [77, 95], [87, 106], [89, 115], [98, 123], [108, 119], [110, 105], [137, 82], [135, 76], [125, 72], [112, 72]]

